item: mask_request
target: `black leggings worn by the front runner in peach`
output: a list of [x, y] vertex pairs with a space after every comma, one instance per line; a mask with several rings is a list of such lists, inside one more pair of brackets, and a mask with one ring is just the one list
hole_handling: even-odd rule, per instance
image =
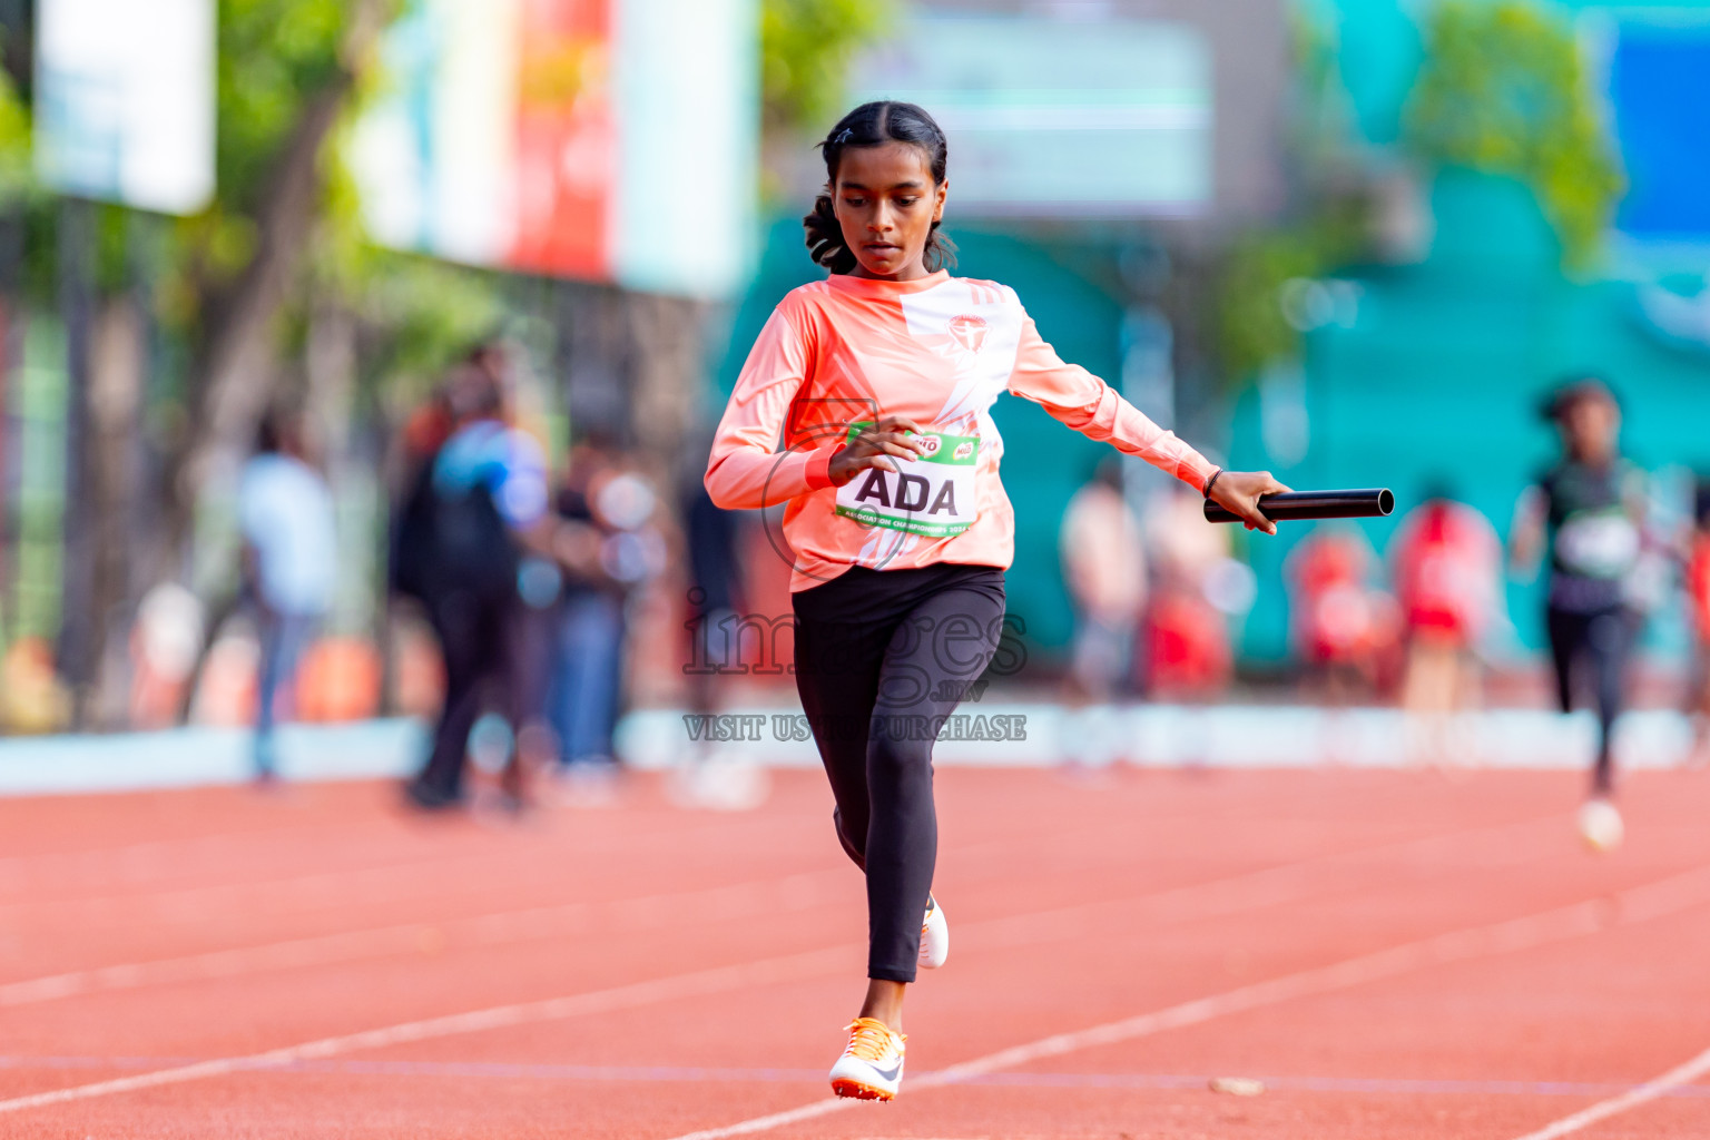
[[857, 566], [795, 595], [795, 687], [831, 778], [838, 839], [867, 873], [869, 978], [915, 979], [939, 851], [932, 742], [1002, 624], [994, 566]]

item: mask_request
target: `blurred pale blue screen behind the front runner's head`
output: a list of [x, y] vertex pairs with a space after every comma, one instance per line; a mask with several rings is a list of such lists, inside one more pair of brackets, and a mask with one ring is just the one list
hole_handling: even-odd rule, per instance
[[1190, 217], [1212, 203], [1211, 79], [1185, 24], [922, 14], [857, 67], [850, 103], [930, 111], [961, 212]]

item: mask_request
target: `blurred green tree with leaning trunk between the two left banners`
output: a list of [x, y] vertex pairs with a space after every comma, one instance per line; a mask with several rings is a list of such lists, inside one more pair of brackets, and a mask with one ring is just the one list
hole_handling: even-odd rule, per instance
[[[215, 193], [198, 214], [96, 210], [104, 301], [145, 282], [164, 374], [144, 412], [162, 458], [164, 502], [149, 574], [171, 573], [219, 448], [246, 446], [255, 419], [287, 393], [311, 316], [354, 318], [364, 403], [400, 379], [416, 388], [491, 333], [499, 275], [373, 248], [342, 164], [344, 126], [378, 68], [376, 36], [405, 0], [215, 0]], [[31, 108], [0, 75], [0, 202], [24, 222], [22, 289], [55, 304], [55, 197], [31, 176]], [[284, 364], [284, 367], [280, 367]], [[291, 397], [287, 397], [291, 398]]]

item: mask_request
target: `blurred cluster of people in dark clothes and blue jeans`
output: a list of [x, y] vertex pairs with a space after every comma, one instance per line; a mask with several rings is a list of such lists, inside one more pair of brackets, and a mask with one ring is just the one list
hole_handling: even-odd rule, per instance
[[598, 786], [616, 764], [628, 600], [667, 562], [653, 482], [590, 432], [554, 470], [515, 422], [506, 356], [469, 354], [402, 434], [390, 586], [433, 629], [443, 696], [409, 795], [467, 798], [470, 764], [523, 803], [554, 774]]

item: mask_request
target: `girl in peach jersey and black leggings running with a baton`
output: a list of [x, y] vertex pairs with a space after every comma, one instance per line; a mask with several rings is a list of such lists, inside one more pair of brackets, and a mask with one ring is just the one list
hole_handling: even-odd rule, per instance
[[797, 689], [838, 839], [867, 875], [867, 1000], [831, 1085], [887, 1101], [903, 1077], [903, 986], [949, 952], [930, 894], [932, 742], [1004, 617], [1014, 511], [992, 403], [1035, 400], [1265, 533], [1257, 499], [1284, 487], [1212, 467], [1057, 359], [1012, 289], [944, 270], [946, 145], [925, 111], [867, 103], [821, 147], [828, 185], [804, 226], [831, 273], [785, 296], [761, 330], [706, 491], [722, 508], [788, 504]]

